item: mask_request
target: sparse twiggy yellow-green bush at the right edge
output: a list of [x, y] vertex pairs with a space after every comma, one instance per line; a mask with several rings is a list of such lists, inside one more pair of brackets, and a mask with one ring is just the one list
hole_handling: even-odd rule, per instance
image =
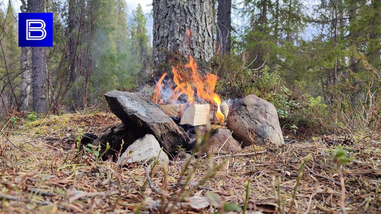
[[362, 65], [357, 73], [350, 72], [343, 83], [330, 88], [335, 98], [330, 106], [331, 124], [345, 131], [377, 131], [381, 128], [381, 72], [362, 53], [357, 59]]

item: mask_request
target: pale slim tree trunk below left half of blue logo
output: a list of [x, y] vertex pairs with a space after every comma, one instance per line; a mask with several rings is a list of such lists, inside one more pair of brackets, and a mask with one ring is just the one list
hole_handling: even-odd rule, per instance
[[19, 96], [20, 111], [27, 111], [29, 106], [30, 83], [32, 83], [32, 73], [30, 73], [30, 48], [21, 47], [21, 84]]

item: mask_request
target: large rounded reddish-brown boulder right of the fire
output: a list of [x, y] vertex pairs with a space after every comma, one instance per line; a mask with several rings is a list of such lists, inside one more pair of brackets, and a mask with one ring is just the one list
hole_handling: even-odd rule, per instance
[[251, 145], [249, 133], [255, 132], [254, 143], [283, 144], [277, 110], [270, 102], [249, 95], [235, 102], [227, 116], [227, 127], [242, 146]]

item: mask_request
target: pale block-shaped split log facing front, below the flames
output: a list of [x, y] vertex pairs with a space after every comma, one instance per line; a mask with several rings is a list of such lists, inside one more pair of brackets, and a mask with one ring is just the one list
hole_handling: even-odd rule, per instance
[[210, 123], [212, 112], [210, 104], [192, 104], [182, 114], [180, 124], [192, 126], [208, 124]]

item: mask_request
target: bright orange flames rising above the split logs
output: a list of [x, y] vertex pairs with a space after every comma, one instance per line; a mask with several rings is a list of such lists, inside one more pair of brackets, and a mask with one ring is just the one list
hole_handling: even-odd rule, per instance
[[[192, 56], [189, 56], [189, 62], [186, 65], [177, 64], [172, 66], [173, 82], [176, 87], [171, 91], [169, 99], [166, 102], [170, 104], [178, 103], [178, 99], [182, 94], [187, 95], [187, 103], [190, 105], [194, 100], [194, 88], [197, 92], [197, 97], [200, 102], [208, 102], [217, 105], [216, 118], [217, 122], [224, 123], [224, 115], [221, 112], [221, 99], [215, 93], [215, 87], [218, 77], [212, 73], [207, 73], [205, 76], [198, 72], [197, 63]], [[161, 89], [165, 86], [162, 81], [166, 73], [159, 79], [155, 87], [152, 100], [157, 104], [163, 104], [163, 100], [159, 99]], [[160, 97], [161, 98], [161, 97]]]

